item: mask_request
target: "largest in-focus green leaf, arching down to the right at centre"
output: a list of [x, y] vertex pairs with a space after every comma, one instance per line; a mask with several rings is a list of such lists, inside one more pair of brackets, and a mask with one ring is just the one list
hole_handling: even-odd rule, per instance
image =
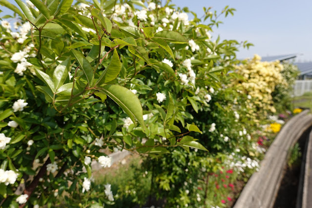
[[133, 123], [135, 123], [135, 119], [137, 119], [145, 128], [143, 109], [139, 98], [135, 94], [123, 86], [114, 84], [108, 84], [98, 88], [115, 101], [125, 111]]

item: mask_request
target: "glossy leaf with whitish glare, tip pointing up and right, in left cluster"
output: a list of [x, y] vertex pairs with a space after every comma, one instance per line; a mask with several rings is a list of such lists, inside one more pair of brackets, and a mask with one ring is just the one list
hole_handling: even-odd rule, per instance
[[55, 89], [59, 89], [62, 84], [65, 82], [67, 76], [68, 76], [68, 66], [70, 64], [70, 57], [65, 59], [61, 64], [59, 64], [54, 72], [53, 72], [53, 83]]

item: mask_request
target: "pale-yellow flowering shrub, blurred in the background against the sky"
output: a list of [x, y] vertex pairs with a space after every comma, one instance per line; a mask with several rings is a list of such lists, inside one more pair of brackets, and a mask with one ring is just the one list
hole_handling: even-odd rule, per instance
[[288, 86], [281, 75], [283, 65], [278, 61], [261, 62], [261, 57], [254, 55], [251, 60], [245, 60], [244, 64], [235, 68], [235, 72], [241, 75], [241, 79], [234, 79], [231, 85], [239, 87], [251, 96], [258, 115], [266, 116], [267, 111], [275, 113], [271, 93], [278, 84]]

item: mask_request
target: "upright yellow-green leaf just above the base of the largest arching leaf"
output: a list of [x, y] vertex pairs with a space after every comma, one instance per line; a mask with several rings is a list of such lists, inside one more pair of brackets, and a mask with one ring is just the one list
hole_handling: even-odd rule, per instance
[[104, 72], [101, 74], [96, 85], [102, 85], [104, 83], [108, 83], [108, 82], [116, 79], [116, 77], [120, 73], [121, 67], [122, 67], [122, 64], [119, 60], [118, 52], [115, 48], [109, 65], [104, 70]]

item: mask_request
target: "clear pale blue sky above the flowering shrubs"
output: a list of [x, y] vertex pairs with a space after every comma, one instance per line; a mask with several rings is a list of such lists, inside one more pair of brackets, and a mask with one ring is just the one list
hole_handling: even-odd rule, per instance
[[[8, 0], [15, 3], [14, 0]], [[165, 2], [165, 0], [163, 0]], [[172, 0], [201, 17], [203, 6], [221, 11], [226, 5], [235, 8], [234, 16], [220, 18], [213, 38], [249, 41], [255, 46], [241, 48], [238, 58], [303, 53], [298, 61], [312, 62], [312, 0]], [[4, 10], [0, 6], [1, 10]], [[0, 13], [2, 17], [4, 14]], [[189, 15], [192, 17], [192, 15]]]

